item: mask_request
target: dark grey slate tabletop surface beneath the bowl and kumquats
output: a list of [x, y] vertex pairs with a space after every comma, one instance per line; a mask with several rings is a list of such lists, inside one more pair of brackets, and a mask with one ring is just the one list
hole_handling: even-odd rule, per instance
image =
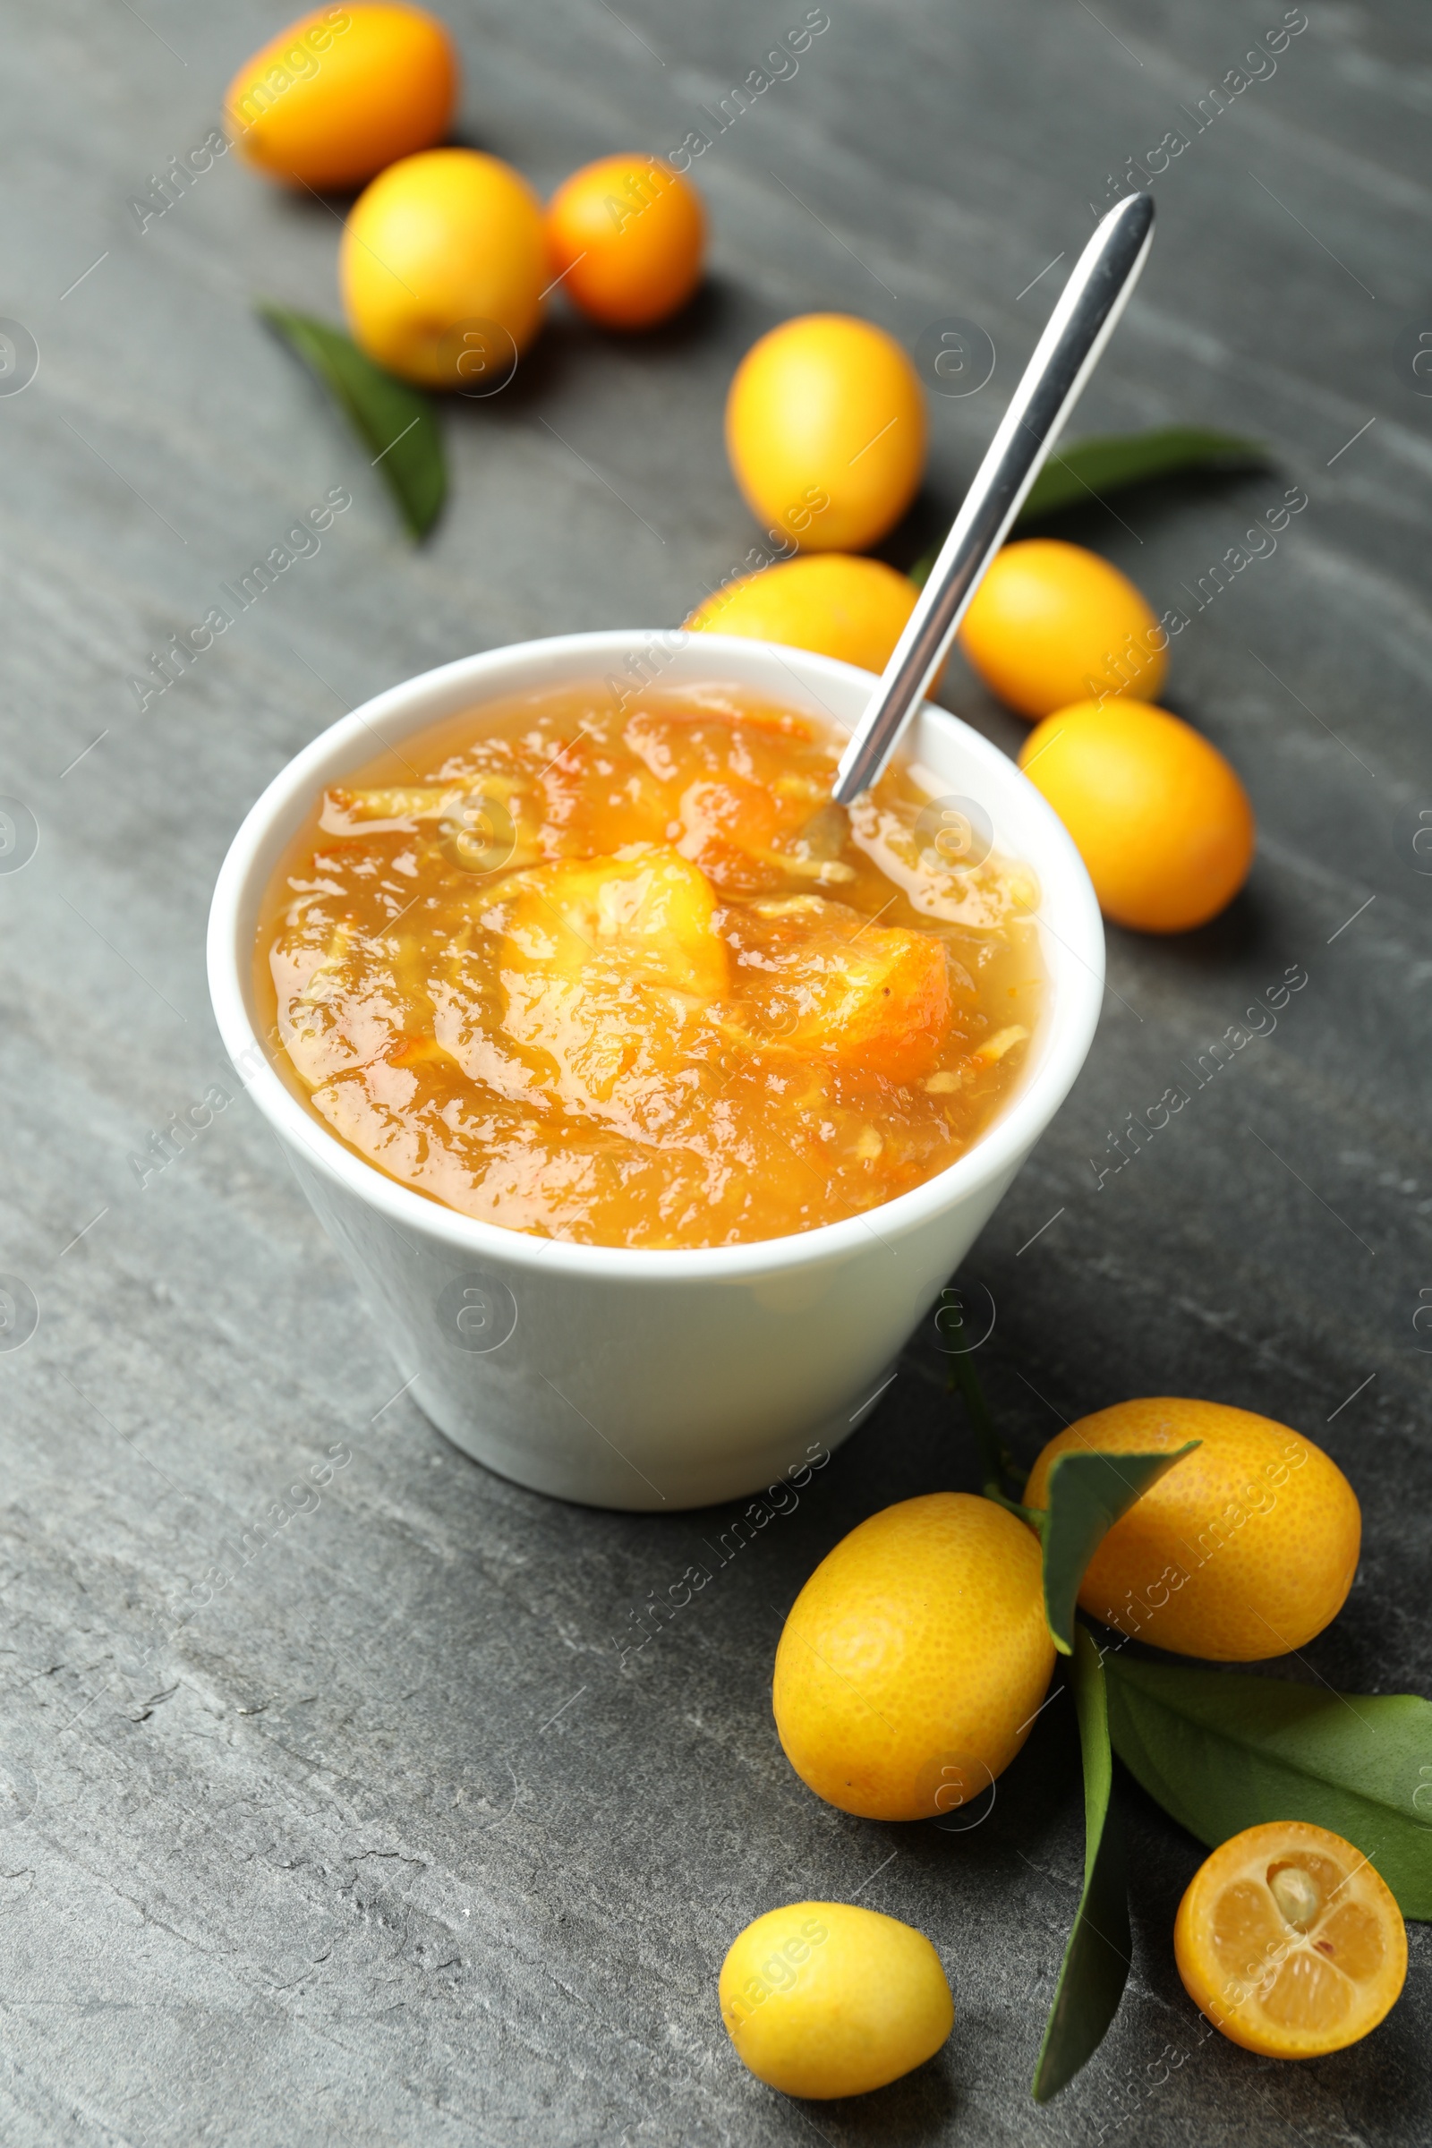
[[[803, 17], [442, 13], [466, 137], [543, 191], [614, 146], [674, 148]], [[298, 745], [470, 649], [681, 619], [751, 541], [721, 400], [786, 314], [844, 307], [910, 344], [966, 316], [994, 339], [985, 389], [932, 397], [927, 494], [887, 548], [908, 561], [1033, 348], [1048, 264], [1110, 174], [1181, 129], [1078, 430], [1226, 425], [1277, 470], [1063, 531], [1161, 608], [1305, 488], [1277, 552], [1177, 640], [1168, 692], [1245, 773], [1258, 863], [1204, 932], [1110, 934], [1088, 1068], [964, 1282], [998, 1310], [981, 1366], [1024, 1456], [1144, 1392], [1323, 1441], [1363, 1501], [1365, 1557], [1284, 1671], [1432, 1690], [1426, 9], [1307, 0], [1277, 71], [1202, 122], [1277, 0], [829, 13], [799, 75], [696, 168], [715, 243], [689, 316], [644, 342], [554, 320], [505, 395], [451, 412], [453, 505], [412, 552], [251, 314], [258, 294], [337, 311], [337, 211], [234, 157], [144, 230], [129, 206], [286, 9], [4, 9], [0, 311], [39, 348], [0, 395], [0, 790], [39, 836], [0, 872], [0, 1269], [39, 1306], [0, 1353], [6, 2148], [1432, 2133], [1426, 1927], [1372, 2043], [1303, 2066], [1198, 2043], [1170, 1927], [1200, 1852], [1134, 1789], [1123, 2013], [1058, 2101], [1028, 2101], [1082, 1856], [1067, 1699], [962, 1834], [848, 1819], [792, 1776], [769, 1667], [801, 1581], [876, 1506], [975, 1482], [930, 1332], [799, 1510], [635, 1650], [640, 1605], [726, 1514], [582, 1512], [455, 1454], [393, 1396], [243, 1095], [144, 1186], [131, 1164], [225, 1085], [208, 889]], [[140, 709], [150, 653], [333, 485], [354, 507], [322, 550]], [[947, 698], [1015, 743], [958, 664]], [[1307, 984], [1277, 1031], [1099, 1186], [1110, 1134], [1288, 964]], [[245, 1527], [335, 1448], [350, 1461], [318, 1510], [206, 1600]], [[797, 2107], [736, 2064], [717, 1965], [760, 1910], [857, 1892], [934, 1935], [958, 2028], [876, 2099]]]

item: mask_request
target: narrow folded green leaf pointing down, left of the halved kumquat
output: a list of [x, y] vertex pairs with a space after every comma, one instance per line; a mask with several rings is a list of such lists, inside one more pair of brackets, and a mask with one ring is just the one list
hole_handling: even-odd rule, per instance
[[1129, 1976], [1129, 1890], [1114, 1806], [1108, 1693], [1099, 1650], [1084, 1626], [1073, 1641], [1073, 1706], [1084, 1755], [1084, 1895], [1065, 1946], [1058, 1989], [1035, 2066], [1035, 2103], [1048, 2103], [1086, 2066], [1119, 2013]]

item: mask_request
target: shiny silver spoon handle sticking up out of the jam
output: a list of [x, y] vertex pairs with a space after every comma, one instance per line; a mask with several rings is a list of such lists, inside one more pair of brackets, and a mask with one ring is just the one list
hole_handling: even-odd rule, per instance
[[940, 546], [919, 604], [880, 685], [850, 735], [831, 797], [850, 806], [895, 752], [910, 711], [934, 679], [985, 567], [1099, 363], [1153, 243], [1153, 200], [1131, 193], [1110, 208], [1073, 264], [1050, 324], [1024, 367], [985, 460]]

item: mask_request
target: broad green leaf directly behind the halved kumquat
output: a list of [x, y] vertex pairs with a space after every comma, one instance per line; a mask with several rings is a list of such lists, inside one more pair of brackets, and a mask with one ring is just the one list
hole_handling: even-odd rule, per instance
[[1114, 1751], [1202, 1843], [1310, 1819], [1432, 1922], [1432, 1703], [1108, 1654]]

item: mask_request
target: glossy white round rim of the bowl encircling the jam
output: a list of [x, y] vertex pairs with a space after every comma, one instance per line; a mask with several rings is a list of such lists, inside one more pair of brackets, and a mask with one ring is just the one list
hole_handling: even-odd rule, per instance
[[[586, 1280], [644, 1280], [651, 1285], [687, 1285], [698, 1280], [741, 1282], [779, 1274], [792, 1267], [812, 1267], [827, 1261], [844, 1261], [857, 1250], [867, 1250], [870, 1239], [878, 1239], [889, 1252], [893, 1237], [904, 1237], [930, 1222], [940, 1209], [962, 1207], [977, 1199], [1003, 1173], [1018, 1169], [1039, 1134], [1048, 1128], [1084, 1063], [1104, 1003], [1104, 926], [1084, 861], [1063, 823], [998, 745], [992, 745], [970, 724], [949, 709], [921, 702], [917, 717], [930, 717], [936, 728], [949, 726], [958, 732], [968, 758], [981, 765], [992, 786], [1020, 795], [1020, 810], [1039, 825], [1041, 851], [1033, 859], [1039, 874], [1041, 943], [1052, 1001], [1052, 1035], [1043, 1061], [1031, 1078], [1015, 1091], [1000, 1115], [977, 1136], [977, 1141], [930, 1179], [882, 1201], [878, 1207], [846, 1216], [839, 1222], [816, 1224], [786, 1237], [747, 1239], [739, 1246], [584, 1246], [571, 1239], [539, 1237], [530, 1231], [511, 1231], [505, 1224], [483, 1222], [464, 1216], [429, 1194], [404, 1186], [389, 1177], [367, 1158], [350, 1149], [337, 1134], [316, 1119], [305, 1104], [288, 1089], [277, 1072], [271, 1050], [260, 1037], [249, 1012], [247, 971], [253, 960], [251, 930], [240, 928], [253, 915], [273, 870], [268, 861], [260, 883], [255, 876], [273, 851], [275, 827], [283, 821], [292, 827], [320, 784], [333, 780], [335, 763], [361, 765], [374, 758], [374, 737], [380, 743], [382, 730], [401, 726], [412, 717], [399, 737], [425, 728], [442, 717], [421, 707], [429, 698], [451, 694], [457, 687], [472, 687], [472, 698], [498, 698], [505, 692], [502, 672], [520, 670], [541, 659], [567, 664], [573, 655], [588, 655], [597, 672], [608, 659], [651, 651], [653, 644], [670, 647], [683, 629], [672, 627], [605, 627], [586, 634], [554, 634], [526, 642], [507, 642], [451, 664], [434, 666], [410, 679], [374, 694], [350, 715], [339, 717], [301, 748], [266, 784], [245, 814], [219, 868], [208, 913], [208, 990], [219, 1025], [223, 1048], [238, 1072], [247, 1093], [279, 1138], [296, 1147], [309, 1164], [326, 1179], [359, 1196], [376, 1209], [399, 1233], [404, 1224], [442, 1242], [453, 1254], [466, 1257], [472, 1265], [496, 1263], [505, 1267], [543, 1269]], [[696, 636], [685, 636], [689, 647]], [[708, 659], [715, 677], [721, 664], [732, 662], [736, 677], [760, 655], [794, 677], [816, 698], [818, 685], [861, 681], [865, 690], [874, 685], [874, 674], [837, 657], [822, 657], [805, 649], [788, 649], [779, 642], [758, 642], [732, 634], [702, 634], [700, 655]], [[552, 681], [554, 685], [560, 679]], [[678, 683], [678, 681], [672, 681]], [[532, 681], [537, 687], [537, 681]], [[511, 681], [509, 692], [522, 692], [522, 681]], [[288, 840], [283, 833], [281, 842]], [[1050, 870], [1054, 868], [1054, 870]], [[1061, 930], [1054, 932], [1046, 909], [1050, 887], [1058, 883]]]

